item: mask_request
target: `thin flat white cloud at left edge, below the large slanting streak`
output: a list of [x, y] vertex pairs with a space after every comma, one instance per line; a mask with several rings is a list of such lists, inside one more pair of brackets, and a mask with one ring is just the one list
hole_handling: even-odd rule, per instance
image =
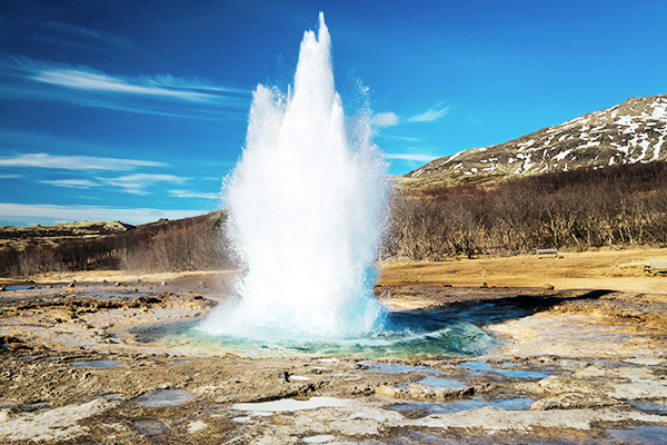
[[152, 160], [97, 158], [91, 156], [54, 156], [28, 154], [0, 158], [0, 167], [37, 167], [63, 170], [133, 170], [137, 167], [165, 167], [167, 164]]

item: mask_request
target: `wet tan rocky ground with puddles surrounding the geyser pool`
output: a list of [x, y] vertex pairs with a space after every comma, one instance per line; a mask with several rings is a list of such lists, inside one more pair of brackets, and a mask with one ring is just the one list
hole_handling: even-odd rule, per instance
[[389, 270], [376, 288], [391, 310], [464, 318], [496, 345], [420, 360], [251, 358], [141, 335], [203, 317], [229, 274], [8, 286], [0, 443], [667, 442], [666, 293], [407, 276]]

